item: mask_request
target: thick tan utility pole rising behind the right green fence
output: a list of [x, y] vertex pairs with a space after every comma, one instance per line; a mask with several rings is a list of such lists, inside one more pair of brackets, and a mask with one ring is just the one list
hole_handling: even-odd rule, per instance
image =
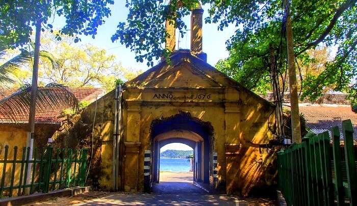
[[299, 99], [297, 96], [295, 54], [293, 44], [293, 31], [291, 28], [291, 16], [289, 0], [285, 0], [287, 12], [286, 18], [286, 41], [288, 51], [288, 69], [289, 69], [289, 88], [290, 88], [290, 106], [291, 106], [291, 134], [294, 143], [301, 143], [300, 117], [299, 117]]

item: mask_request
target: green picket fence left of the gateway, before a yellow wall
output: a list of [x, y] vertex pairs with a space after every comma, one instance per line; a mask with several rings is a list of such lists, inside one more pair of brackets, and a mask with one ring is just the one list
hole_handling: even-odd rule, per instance
[[33, 158], [30, 147], [19, 152], [17, 146], [9, 150], [6, 145], [3, 152], [0, 198], [85, 185], [88, 149], [35, 147]]

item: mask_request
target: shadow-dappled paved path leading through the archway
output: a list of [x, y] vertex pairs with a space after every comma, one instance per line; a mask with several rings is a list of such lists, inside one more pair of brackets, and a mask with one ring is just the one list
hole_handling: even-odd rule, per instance
[[234, 196], [209, 194], [192, 184], [190, 173], [163, 172], [160, 179], [160, 184], [156, 184], [150, 194], [89, 192], [70, 198], [48, 199], [32, 205], [275, 205], [273, 200], [267, 198], [238, 199]]

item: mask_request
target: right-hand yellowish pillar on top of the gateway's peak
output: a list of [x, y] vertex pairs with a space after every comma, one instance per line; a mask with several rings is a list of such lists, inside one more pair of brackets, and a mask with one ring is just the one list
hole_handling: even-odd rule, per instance
[[191, 53], [207, 61], [207, 54], [202, 52], [202, 14], [201, 4], [191, 13]]

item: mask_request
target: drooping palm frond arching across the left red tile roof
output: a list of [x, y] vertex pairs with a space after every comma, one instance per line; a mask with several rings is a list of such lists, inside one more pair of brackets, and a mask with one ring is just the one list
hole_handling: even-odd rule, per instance
[[[9, 97], [0, 100], [0, 119], [17, 123], [29, 118], [31, 101], [31, 85], [23, 85]], [[36, 113], [53, 111], [53, 108], [79, 109], [79, 101], [65, 87], [60, 84], [50, 83], [38, 87], [36, 99]], [[35, 113], [35, 117], [36, 117]]]

